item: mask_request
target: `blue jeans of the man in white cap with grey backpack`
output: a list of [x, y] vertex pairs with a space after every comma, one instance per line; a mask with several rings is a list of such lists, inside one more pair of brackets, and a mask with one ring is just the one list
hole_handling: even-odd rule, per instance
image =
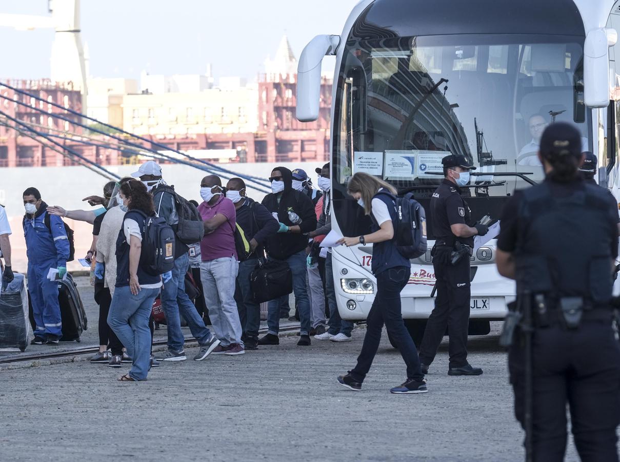
[[181, 318], [187, 321], [192, 335], [198, 339], [200, 345], [205, 345], [211, 337], [211, 331], [198, 314], [196, 307], [185, 293], [185, 273], [190, 266], [187, 253], [174, 260], [172, 279], [164, 284], [161, 293], [161, 304], [166, 315], [168, 330], [168, 349], [183, 351], [185, 337], [181, 330]]

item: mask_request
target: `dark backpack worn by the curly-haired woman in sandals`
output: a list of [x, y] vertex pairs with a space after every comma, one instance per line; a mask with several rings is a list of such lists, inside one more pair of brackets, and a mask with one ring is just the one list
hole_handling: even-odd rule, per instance
[[131, 212], [138, 212], [144, 218], [140, 255], [140, 264], [143, 265], [144, 272], [151, 276], [159, 276], [172, 270], [175, 251], [175, 234], [172, 227], [161, 217], [149, 217], [139, 210]]

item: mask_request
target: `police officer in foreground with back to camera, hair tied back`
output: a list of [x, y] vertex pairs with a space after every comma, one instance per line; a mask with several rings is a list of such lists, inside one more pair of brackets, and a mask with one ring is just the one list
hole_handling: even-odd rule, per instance
[[[545, 181], [517, 191], [500, 221], [497, 269], [516, 279], [519, 310], [533, 317], [533, 332], [523, 324], [516, 328], [508, 367], [524, 428], [531, 403], [529, 444], [536, 461], [564, 460], [567, 404], [580, 458], [618, 461], [620, 346], [609, 303], [618, 204], [578, 173], [580, 145], [572, 125], [549, 125], [538, 154]], [[530, 373], [533, 392], [526, 396]]]

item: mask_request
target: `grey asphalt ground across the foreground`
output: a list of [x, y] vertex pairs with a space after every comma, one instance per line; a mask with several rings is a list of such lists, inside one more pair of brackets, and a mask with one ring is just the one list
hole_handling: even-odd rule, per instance
[[[141, 383], [119, 383], [126, 368], [87, 361], [0, 369], [0, 457], [521, 461], [499, 324], [470, 337], [482, 376], [449, 377], [444, 342], [422, 395], [389, 393], [405, 367], [385, 334], [363, 391], [336, 383], [355, 363], [363, 328], [349, 343], [301, 347], [293, 335], [242, 356], [164, 363]], [[96, 332], [95, 317], [91, 325]], [[567, 460], [578, 460], [572, 442]]]

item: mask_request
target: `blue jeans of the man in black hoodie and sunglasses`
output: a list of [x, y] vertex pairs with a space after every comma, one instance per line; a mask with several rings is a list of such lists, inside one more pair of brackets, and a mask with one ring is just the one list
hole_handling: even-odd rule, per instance
[[[310, 333], [310, 301], [308, 299], [308, 288], [306, 286], [306, 251], [302, 250], [291, 255], [286, 260], [288, 266], [293, 273], [293, 293], [297, 300], [297, 308], [299, 310], [299, 320], [301, 322], [301, 335]], [[269, 302], [267, 313], [268, 333], [278, 335], [280, 331], [280, 307], [283, 299], [288, 299], [288, 295]]]

